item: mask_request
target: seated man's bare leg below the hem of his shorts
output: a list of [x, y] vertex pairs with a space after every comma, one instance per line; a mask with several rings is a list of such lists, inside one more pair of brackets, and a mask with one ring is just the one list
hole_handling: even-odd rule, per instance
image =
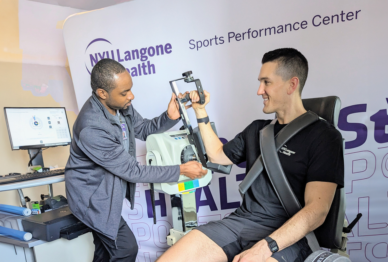
[[171, 246], [157, 262], [227, 262], [222, 248], [199, 230], [192, 230]]

